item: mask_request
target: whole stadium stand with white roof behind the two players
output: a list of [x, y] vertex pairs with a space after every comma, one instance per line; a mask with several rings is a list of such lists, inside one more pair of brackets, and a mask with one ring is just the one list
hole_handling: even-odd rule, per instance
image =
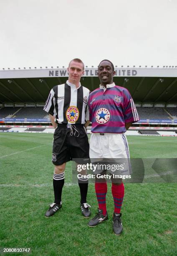
[[[177, 136], [177, 68], [169, 67], [158, 68], [157, 73], [154, 67], [141, 67], [144, 76], [139, 77], [140, 73], [132, 73], [128, 81], [125, 76], [129, 75], [129, 67], [124, 68], [124, 74], [121, 73], [123, 70], [116, 68], [114, 82], [124, 87], [131, 84], [130, 92], [133, 93], [132, 97], [141, 119], [132, 125], [131, 130], [126, 131], [126, 135]], [[134, 68], [135, 72], [139, 72], [139, 69]], [[26, 71], [20, 68], [0, 70], [0, 126], [4, 126], [0, 128], [0, 132], [54, 133], [55, 129], [51, 125], [48, 113], [43, 110], [43, 105], [49, 90], [58, 82], [66, 82], [67, 70], [28, 69], [28, 79]], [[93, 75], [96, 74], [95, 71], [95, 68], [88, 68], [83, 78], [84, 86], [91, 91], [98, 86], [98, 78]], [[22, 86], [24, 94], [20, 90]], [[9, 94], [11, 90], [13, 93]], [[20, 101], [17, 101], [17, 96]], [[87, 128], [87, 133], [91, 133], [91, 126]]]

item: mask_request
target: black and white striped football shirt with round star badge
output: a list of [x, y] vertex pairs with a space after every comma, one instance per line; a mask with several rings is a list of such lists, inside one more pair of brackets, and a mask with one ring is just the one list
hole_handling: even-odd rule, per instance
[[66, 81], [51, 89], [44, 110], [56, 117], [56, 123], [84, 124], [89, 120], [89, 90]]

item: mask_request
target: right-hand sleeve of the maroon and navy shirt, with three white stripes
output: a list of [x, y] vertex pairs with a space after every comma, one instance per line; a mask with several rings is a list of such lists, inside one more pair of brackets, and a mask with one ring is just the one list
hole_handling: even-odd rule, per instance
[[124, 92], [124, 120], [125, 123], [139, 121], [137, 109], [128, 90]]

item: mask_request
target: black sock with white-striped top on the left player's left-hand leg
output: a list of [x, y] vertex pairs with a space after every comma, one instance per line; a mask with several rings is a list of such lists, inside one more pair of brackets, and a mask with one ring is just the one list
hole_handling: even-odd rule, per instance
[[53, 191], [55, 196], [55, 201], [57, 205], [61, 203], [61, 193], [64, 185], [65, 173], [53, 174]]

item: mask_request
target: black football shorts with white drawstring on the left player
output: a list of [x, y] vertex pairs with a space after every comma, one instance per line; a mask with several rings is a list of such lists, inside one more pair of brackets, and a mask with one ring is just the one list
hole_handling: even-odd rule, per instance
[[[72, 159], [88, 159], [89, 143], [88, 136], [83, 125], [75, 125], [77, 132], [67, 125], [58, 124], [53, 135], [52, 162], [61, 165]], [[75, 133], [75, 135], [74, 135]]]

